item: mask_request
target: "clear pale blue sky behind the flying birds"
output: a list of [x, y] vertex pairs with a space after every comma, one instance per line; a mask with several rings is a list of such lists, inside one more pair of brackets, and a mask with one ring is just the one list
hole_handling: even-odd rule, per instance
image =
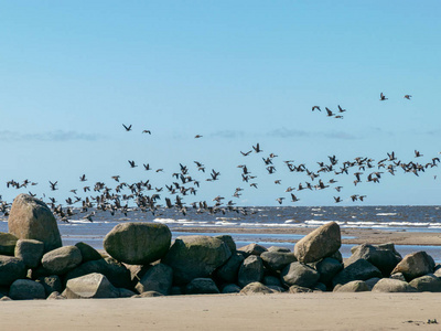
[[[439, 157], [440, 12], [438, 0], [2, 1], [0, 194], [62, 202], [84, 185], [83, 173], [88, 185], [114, 185], [119, 174], [162, 186], [181, 162], [201, 180], [186, 202], [223, 195], [240, 205], [276, 205], [277, 197], [334, 205], [341, 196], [357, 205], [349, 196], [366, 194], [363, 204], [439, 204], [439, 168], [356, 186], [354, 175], [340, 175], [342, 192], [293, 192], [294, 204], [286, 189], [311, 180], [282, 161], [316, 170], [333, 154], [338, 166], [391, 151], [406, 162]], [[344, 118], [327, 117], [324, 107], [337, 105]], [[257, 142], [262, 153], [240, 154]], [[270, 152], [275, 174], [261, 160]], [[241, 181], [238, 164], [258, 175], [258, 189]], [[206, 182], [212, 169], [219, 180]], [[39, 184], [7, 189], [11, 179]]]

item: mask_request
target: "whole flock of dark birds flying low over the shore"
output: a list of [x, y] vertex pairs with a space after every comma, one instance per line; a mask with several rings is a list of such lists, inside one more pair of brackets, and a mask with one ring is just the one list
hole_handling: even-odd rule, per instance
[[[410, 95], [405, 96], [407, 99], [410, 99]], [[380, 94], [380, 100], [387, 100], [383, 93]], [[343, 118], [341, 115], [333, 114], [327, 107], [325, 109], [329, 116]], [[319, 106], [313, 106], [312, 110], [321, 111]], [[338, 113], [342, 114], [344, 111], [346, 110], [338, 105]], [[122, 124], [122, 127], [127, 132], [132, 131], [132, 125]], [[142, 134], [151, 135], [151, 131], [142, 130]], [[198, 139], [202, 137], [201, 135], [196, 135], [194, 138]], [[345, 200], [363, 202], [367, 197], [364, 194], [349, 193], [348, 196], [342, 197], [340, 193], [344, 188], [338, 184], [340, 177], [352, 177], [354, 186], [361, 183], [378, 184], [386, 174], [396, 175], [397, 172], [401, 172], [419, 177], [421, 172], [438, 167], [440, 162], [438, 157], [433, 157], [430, 161], [420, 163], [418, 160], [423, 154], [415, 150], [415, 159], [410, 161], [398, 160], [395, 152], [391, 151], [387, 153], [387, 157], [385, 156], [378, 161], [369, 157], [356, 157], [352, 160], [340, 161], [336, 156], [329, 156], [324, 161], [316, 162], [316, 166], [306, 167], [305, 163], [294, 162], [293, 160], [276, 162], [278, 156], [273, 152], [263, 154], [260, 143], [256, 143], [245, 151], [240, 150], [240, 154], [244, 158], [244, 162], [238, 164], [237, 169], [241, 184], [232, 192], [230, 196], [217, 195], [211, 202], [197, 200], [191, 203], [184, 202], [184, 200], [190, 199], [189, 196], [195, 199], [203, 182], [215, 182], [222, 178], [220, 171], [215, 169], [208, 170], [202, 161], [196, 160], [191, 166], [179, 163], [176, 171], [171, 173], [170, 182], [160, 186], [153, 186], [150, 180], [129, 183], [122, 181], [120, 175], [111, 177], [112, 185], [108, 185], [105, 182], [95, 182], [89, 185], [87, 184], [86, 174], [82, 174], [78, 178], [79, 183], [83, 183], [82, 188], [69, 190], [72, 196], [66, 197], [64, 202], [57, 202], [52, 196], [46, 197], [45, 194], [41, 199], [49, 204], [54, 215], [64, 222], [68, 222], [76, 214], [82, 215], [80, 217], [84, 220], [93, 222], [93, 217], [98, 211], [109, 211], [112, 215], [115, 213], [122, 213], [127, 216], [133, 205], [142, 212], [150, 212], [153, 215], [161, 213], [162, 209], [178, 209], [184, 215], [187, 209], [193, 209], [196, 213], [225, 214], [226, 212], [236, 212], [247, 215], [249, 213], [247, 207], [236, 206], [235, 201], [244, 194], [246, 189], [259, 189], [258, 175], [245, 162], [251, 154], [262, 156], [260, 167], [263, 167], [265, 170], [259, 169], [260, 172], [258, 172], [272, 175], [275, 185], [283, 186], [282, 181], [277, 179], [276, 175], [280, 171], [280, 166], [284, 168], [284, 171], [304, 177], [303, 180], [295, 184], [284, 185], [281, 190], [284, 191], [284, 194], [276, 197], [279, 204], [283, 204], [287, 199], [290, 203], [300, 201], [303, 191], [323, 190], [335, 192], [332, 194], [335, 203], [341, 203]], [[128, 167], [131, 169], [138, 167], [135, 160], [128, 160]], [[150, 163], [142, 163], [142, 168], [144, 171], [164, 172], [162, 168], [152, 169]], [[197, 174], [195, 175], [194, 172]], [[331, 178], [327, 179], [327, 177]], [[437, 177], [434, 175], [434, 178]], [[30, 191], [30, 188], [35, 185], [37, 185], [36, 182], [28, 179], [22, 182], [15, 180], [7, 182], [8, 189], [24, 189], [33, 196], [35, 194]], [[49, 188], [51, 191], [57, 191], [58, 181], [49, 181]], [[82, 194], [78, 194], [78, 192], [86, 196], [82, 197]], [[0, 212], [8, 215], [11, 203], [2, 201], [0, 195]]]

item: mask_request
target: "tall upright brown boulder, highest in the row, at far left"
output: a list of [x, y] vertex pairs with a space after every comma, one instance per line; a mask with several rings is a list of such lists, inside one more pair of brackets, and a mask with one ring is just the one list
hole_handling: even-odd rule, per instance
[[56, 220], [47, 205], [31, 195], [19, 194], [11, 206], [9, 232], [19, 239], [36, 239], [44, 243], [44, 252], [62, 246]]

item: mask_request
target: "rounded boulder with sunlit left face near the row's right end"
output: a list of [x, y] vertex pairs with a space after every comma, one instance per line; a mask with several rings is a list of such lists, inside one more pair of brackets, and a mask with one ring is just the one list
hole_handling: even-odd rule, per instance
[[433, 258], [426, 252], [417, 252], [406, 255], [391, 274], [401, 273], [406, 277], [406, 280], [410, 281], [413, 278], [432, 274], [433, 270]]

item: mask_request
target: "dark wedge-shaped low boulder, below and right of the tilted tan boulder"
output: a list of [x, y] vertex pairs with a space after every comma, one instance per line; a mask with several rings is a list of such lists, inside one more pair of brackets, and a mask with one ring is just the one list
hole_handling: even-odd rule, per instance
[[335, 287], [337, 284], [344, 285], [352, 280], [367, 280], [373, 277], [383, 277], [381, 271], [376, 266], [362, 258], [340, 271], [332, 279], [332, 285]]

